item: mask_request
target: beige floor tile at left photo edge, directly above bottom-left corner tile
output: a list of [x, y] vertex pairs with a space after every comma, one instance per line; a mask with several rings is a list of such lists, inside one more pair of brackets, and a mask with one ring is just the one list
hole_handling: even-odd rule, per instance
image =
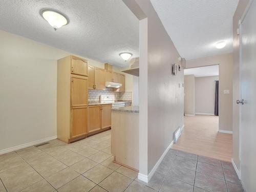
[[27, 163], [15, 152], [0, 155], [0, 173], [15, 167], [24, 167]]

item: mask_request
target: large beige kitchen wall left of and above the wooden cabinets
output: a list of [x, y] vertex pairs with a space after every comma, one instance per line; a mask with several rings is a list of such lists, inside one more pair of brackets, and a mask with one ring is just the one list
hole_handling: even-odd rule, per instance
[[[5, 153], [56, 136], [57, 59], [71, 53], [1, 30], [0, 42], [0, 153]], [[104, 63], [86, 59], [104, 68]]]

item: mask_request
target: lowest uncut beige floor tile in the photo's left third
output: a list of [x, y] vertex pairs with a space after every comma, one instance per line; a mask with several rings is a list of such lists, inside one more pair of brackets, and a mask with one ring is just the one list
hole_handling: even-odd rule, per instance
[[50, 177], [47, 177], [46, 180], [51, 183], [54, 188], [58, 189], [78, 176], [79, 174], [77, 172], [75, 172], [72, 168], [67, 167], [51, 175]]

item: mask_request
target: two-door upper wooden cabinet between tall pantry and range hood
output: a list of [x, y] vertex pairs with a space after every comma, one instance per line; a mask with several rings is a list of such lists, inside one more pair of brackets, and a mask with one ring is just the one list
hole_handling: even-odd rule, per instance
[[105, 70], [88, 66], [88, 89], [105, 90]]

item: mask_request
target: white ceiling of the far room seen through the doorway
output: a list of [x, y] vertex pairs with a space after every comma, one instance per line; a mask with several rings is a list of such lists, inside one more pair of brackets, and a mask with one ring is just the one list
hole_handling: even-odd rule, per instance
[[195, 75], [195, 77], [218, 76], [219, 65], [184, 69], [184, 75]]

